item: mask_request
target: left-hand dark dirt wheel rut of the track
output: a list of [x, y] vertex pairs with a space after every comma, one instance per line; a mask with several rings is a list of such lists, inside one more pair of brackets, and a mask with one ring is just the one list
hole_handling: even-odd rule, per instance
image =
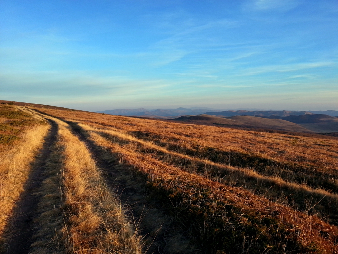
[[46, 159], [51, 153], [50, 147], [56, 141], [57, 134], [57, 124], [50, 119], [46, 118], [46, 120], [51, 124], [51, 128], [44, 139], [43, 147], [38, 151], [35, 161], [32, 163], [24, 191], [19, 197], [13, 217], [8, 222], [6, 254], [28, 254], [30, 245], [33, 243], [33, 235], [37, 231], [33, 219], [38, 217], [39, 198], [33, 193], [38, 191], [41, 183], [47, 178], [43, 172]]

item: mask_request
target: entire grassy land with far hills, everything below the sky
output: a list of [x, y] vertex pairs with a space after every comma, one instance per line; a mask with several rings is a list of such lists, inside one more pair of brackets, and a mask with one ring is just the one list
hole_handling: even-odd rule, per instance
[[2, 101], [1, 252], [338, 253], [338, 118], [198, 110]]

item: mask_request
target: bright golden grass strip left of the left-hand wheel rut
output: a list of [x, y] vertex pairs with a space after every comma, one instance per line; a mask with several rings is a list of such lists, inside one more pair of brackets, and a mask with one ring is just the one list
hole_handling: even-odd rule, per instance
[[23, 191], [35, 153], [42, 146], [50, 126], [37, 125], [24, 131], [20, 142], [0, 155], [0, 241], [3, 240], [7, 218], [11, 215], [15, 201]]

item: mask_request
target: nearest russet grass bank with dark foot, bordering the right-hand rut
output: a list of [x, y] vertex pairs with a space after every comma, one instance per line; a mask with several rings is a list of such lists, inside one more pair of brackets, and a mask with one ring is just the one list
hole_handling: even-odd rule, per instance
[[[86, 130], [86, 126], [82, 127]], [[145, 173], [151, 192], [160, 196], [168, 209], [171, 206], [175, 216], [211, 252], [338, 251], [337, 228], [314, 216], [273, 204], [242, 188], [227, 187], [164, 165], [149, 155], [107, 141], [91, 127], [87, 130], [97, 145], [111, 151], [123, 164]]]

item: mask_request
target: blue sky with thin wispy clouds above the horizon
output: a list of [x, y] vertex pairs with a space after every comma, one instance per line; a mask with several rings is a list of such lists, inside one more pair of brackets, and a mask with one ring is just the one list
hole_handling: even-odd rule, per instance
[[0, 96], [338, 110], [338, 1], [0, 1]]

